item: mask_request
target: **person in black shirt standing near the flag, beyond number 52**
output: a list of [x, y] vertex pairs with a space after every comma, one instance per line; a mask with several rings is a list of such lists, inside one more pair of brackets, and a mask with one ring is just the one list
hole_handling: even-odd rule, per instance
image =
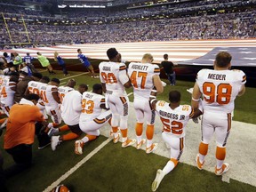
[[172, 61], [168, 60], [168, 54], [164, 54], [164, 61], [161, 62], [161, 65], [164, 68], [164, 72], [168, 78], [168, 80], [170, 81], [171, 85], [175, 85], [176, 84], [176, 74], [175, 71], [173, 70], [173, 63]]

